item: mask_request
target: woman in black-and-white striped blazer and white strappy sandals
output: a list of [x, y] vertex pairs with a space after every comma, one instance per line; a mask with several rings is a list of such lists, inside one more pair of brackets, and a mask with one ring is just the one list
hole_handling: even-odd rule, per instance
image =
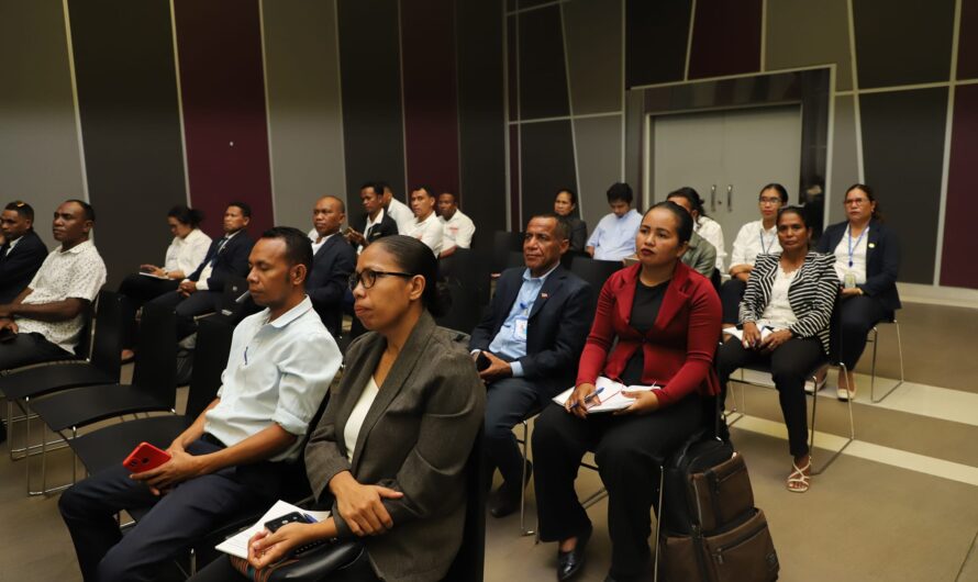
[[737, 368], [770, 363], [794, 458], [788, 490], [803, 493], [811, 479], [804, 380], [829, 354], [838, 280], [834, 258], [810, 251], [811, 230], [802, 209], [781, 209], [777, 226], [781, 253], [757, 258], [741, 302], [743, 340], [730, 337], [716, 352], [716, 367], [725, 393]]

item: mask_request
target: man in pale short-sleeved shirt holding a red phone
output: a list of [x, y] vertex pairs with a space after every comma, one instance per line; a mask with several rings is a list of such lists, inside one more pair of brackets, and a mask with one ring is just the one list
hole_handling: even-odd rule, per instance
[[[62, 495], [86, 581], [153, 580], [214, 526], [279, 497], [342, 356], [305, 295], [309, 238], [271, 228], [248, 262], [248, 290], [266, 309], [235, 327], [218, 398], [174, 439], [171, 459], [132, 475], [120, 459]], [[115, 514], [146, 506], [123, 537]]]

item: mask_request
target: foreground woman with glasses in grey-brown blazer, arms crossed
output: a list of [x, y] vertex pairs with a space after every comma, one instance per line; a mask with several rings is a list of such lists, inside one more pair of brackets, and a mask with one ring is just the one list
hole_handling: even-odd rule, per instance
[[[429, 313], [441, 311], [436, 276], [431, 249], [408, 236], [379, 238], [360, 254], [354, 309], [373, 333], [347, 349], [343, 379], [305, 448], [312, 491], [332, 516], [256, 535], [253, 568], [311, 541], [359, 537], [366, 551], [343, 570], [344, 581], [424, 582], [448, 571], [486, 392], [465, 346]], [[215, 563], [195, 580], [233, 573], [229, 560]]]

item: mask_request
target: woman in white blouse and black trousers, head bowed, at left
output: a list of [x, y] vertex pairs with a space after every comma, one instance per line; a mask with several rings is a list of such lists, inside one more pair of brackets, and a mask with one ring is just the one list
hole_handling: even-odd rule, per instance
[[203, 261], [211, 237], [200, 231], [203, 213], [182, 204], [170, 209], [166, 215], [174, 240], [166, 249], [163, 267], [140, 265], [140, 272], [130, 275], [119, 286], [122, 295], [123, 346], [122, 359], [133, 357], [135, 344], [136, 310], [144, 303], [167, 291], [176, 291], [180, 281]]

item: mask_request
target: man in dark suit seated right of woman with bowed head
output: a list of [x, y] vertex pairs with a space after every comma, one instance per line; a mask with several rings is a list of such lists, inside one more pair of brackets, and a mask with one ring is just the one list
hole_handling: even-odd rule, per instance
[[245, 231], [252, 209], [244, 202], [232, 202], [224, 211], [224, 237], [214, 239], [203, 261], [180, 281], [174, 293], [164, 293], [151, 303], [167, 305], [177, 314], [177, 339], [193, 334], [193, 317], [218, 311], [224, 284], [231, 277], [247, 277], [248, 255], [255, 242]]

